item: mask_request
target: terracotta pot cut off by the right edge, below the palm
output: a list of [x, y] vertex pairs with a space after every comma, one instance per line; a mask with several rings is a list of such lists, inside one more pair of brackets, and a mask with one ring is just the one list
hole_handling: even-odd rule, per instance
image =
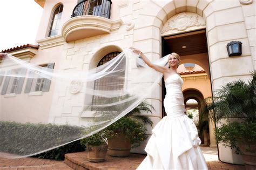
[[[242, 151], [242, 160], [245, 163], [245, 169], [255, 170], [256, 169], [256, 144], [251, 144], [250, 147], [247, 144], [239, 146]], [[246, 148], [250, 148], [248, 151]]]

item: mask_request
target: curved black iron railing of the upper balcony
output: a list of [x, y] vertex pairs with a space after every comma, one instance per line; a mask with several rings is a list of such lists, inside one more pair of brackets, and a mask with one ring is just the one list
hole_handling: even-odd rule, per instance
[[94, 15], [110, 18], [111, 0], [85, 0], [73, 9], [71, 18], [82, 15]]

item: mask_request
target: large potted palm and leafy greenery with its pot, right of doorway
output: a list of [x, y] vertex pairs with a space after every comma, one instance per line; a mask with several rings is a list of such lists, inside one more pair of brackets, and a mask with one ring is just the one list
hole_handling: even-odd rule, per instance
[[[246, 84], [237, 80], [221, 87], [217, 96], [206, 98], [207, 105], [203, 114], [219, 123], [226, 119], [227, 124], [220, 123], [215, 130], [218, 144], [236, 149], [242, 154], [246, 169], [256, 169], [256, 73]], [[209, 102], [209, 99], [210, 102]], [[231, 118], [235, 119], [232, 123]]]

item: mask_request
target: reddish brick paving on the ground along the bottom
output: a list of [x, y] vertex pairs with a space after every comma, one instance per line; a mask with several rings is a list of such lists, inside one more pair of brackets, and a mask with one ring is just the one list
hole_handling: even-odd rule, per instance
[[[245, 169], [242, 165], [232, 165], [226, 164], [218, 160], [217, 149], [209, 148], [209, 147], [201, 147], [201, 150], [204, 154], [204, 157], [207, 162], [207, 166], [209, 170], [238, 170]], [[80, 157], [84, 159], [84, 153], [71, 153], [76, 157]], [[139, 163], [145, 158], [145, 155], [140, 154], [131, 154], [130, 157], [127, 158], [110, 158], [108, 161], [102, 162], [104, 164], [103, 169], [136, 169]], [[91, 165], [96, 164], [92, 163]], [[98, 163], [99, 164], [99, 163]], [[109, 168], [106, 168], [108, 166]], [[120, 166], [120, 167], [118, 167]], [[63, 169], [63, 170], [71, 170], [64, 163], [64, 161], [56, 161], [49, 159], [38, 159], [38, 158], [21, 158], [21, 159], [6, 159], [1, 157], [0, 153], [0, 170], [2, 169], [12, 169], [12, 170], [32, 170], [32, 169], [45, 169], [45, 170], [55, 170], [55, 169]], [[93, 169], [101, 169], [101, 168], [93, 168]]]

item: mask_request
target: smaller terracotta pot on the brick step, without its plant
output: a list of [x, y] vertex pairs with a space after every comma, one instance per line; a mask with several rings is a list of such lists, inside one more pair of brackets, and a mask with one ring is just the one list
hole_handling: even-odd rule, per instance
[[106, 158], [107, 144], [99, 146], [87, 145], [87, 160], [90, 162], [103, 162]]

